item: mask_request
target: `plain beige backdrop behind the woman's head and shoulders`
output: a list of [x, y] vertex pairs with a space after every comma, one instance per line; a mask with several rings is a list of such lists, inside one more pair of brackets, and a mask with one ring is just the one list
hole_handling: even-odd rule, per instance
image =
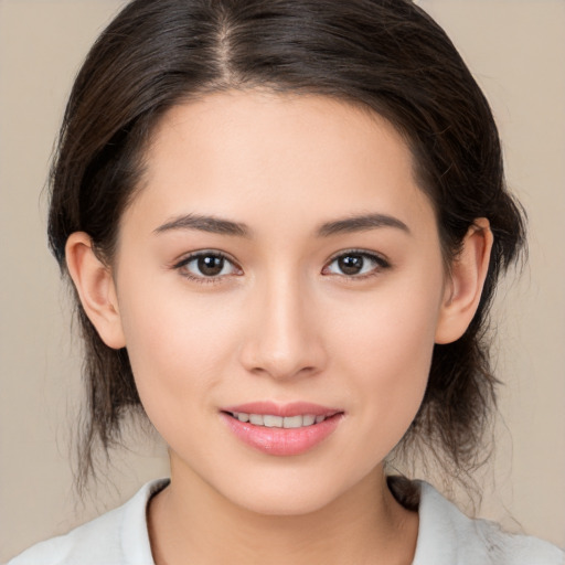
[[[119, 3], [0, 0], [0, 561], [167, 473], [163, 448], [135, 439], [84, 504], [73, 494], [79, 361], [40, 196], [72, 78]], [[507, 386], [481, 514], [565, 545], [565, 2], [419, 3], [486, 89], [530, 213], [530, 266], [500, 292]]]

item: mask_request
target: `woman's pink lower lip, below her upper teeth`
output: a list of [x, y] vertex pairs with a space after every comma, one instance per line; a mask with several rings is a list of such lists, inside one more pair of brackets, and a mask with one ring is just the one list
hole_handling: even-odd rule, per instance
[[230, 429], [244, 443], [268, 455], [292, 456], [305, 454], [323, 441], [339, 425], [343, 414], [335, 414], [319, 424], [300, 428], [268, 428], [239, 422], [222, 413]]

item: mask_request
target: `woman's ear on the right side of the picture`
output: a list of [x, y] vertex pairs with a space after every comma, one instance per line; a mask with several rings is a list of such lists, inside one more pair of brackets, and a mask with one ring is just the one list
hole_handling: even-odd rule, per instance
[[477, 218], [451, 265], [436, 329], [436, 343], [458, 340], [471, 323], [489, 270], [492, 241], [489, 221]]

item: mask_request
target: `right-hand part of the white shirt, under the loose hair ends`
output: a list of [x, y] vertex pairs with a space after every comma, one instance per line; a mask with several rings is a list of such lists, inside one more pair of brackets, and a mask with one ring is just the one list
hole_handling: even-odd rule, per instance
[[565, 553], [555, 545], [505, 533], [488, 520], [472, 520], [430, 484], [419, 484], [420, 525], [414, 565], [565, 565]]

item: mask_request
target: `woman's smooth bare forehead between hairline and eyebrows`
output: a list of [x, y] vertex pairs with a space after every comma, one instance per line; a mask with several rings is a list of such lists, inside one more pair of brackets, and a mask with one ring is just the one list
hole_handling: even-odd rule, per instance
[[329, 97], [259, 90], [170, 109], [146, 153], [134, 211], [140, 205], [161, 222], [202, 213], [257, 227], [290, 215], [306, 226], [366, 212], [407, 223], [430, 212], [412, 153], [384, 118]]

